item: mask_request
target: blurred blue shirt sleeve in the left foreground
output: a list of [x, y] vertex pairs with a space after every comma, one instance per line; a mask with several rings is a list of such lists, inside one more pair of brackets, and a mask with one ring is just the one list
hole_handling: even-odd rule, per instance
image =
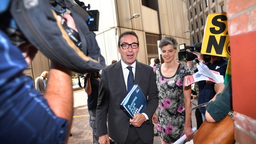
[[24, 76], [26, 61], [2, 31], [0, 61], [0, 143], [64, 143], [67, 120], [54, 114], [32, 79]]

